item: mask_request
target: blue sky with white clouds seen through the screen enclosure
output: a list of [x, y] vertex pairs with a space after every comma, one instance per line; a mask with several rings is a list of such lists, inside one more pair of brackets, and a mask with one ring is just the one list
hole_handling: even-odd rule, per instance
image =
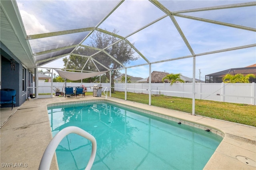
[[[160, 1], [160, 3], [165, 5], [170, 11], [237, 4], [242, 2], [250, 1]], [[28, 35], [96, 26], [117, 3], [118, 1], [108, 0], [17, 0], [18, 8], [20, 9], [20, 14]], [[116, 29], [119, 31], [118, 34], [126, 37], [164, 15], [164, 12], [159, 10], [149, 1], [126, 0], [99, 26], [99, 28], [107, 29], [110, 32], [112, 32], [113, 29]], [[194, 12], [184, 15], [244, 25], [254, 29], [256, 28], [256, 6]], [[195, 54], [256, 43], [256, 33], [254, 31], [226, 27], [176, 16], [174, 18]], [[34, 47], [37, 50], [43, 50], [52, 47], [56, 42], [61, 46], [69, 42], [72, 37], [75, 37], [75, 35], [66, 35], [66, 37], [64, 38], [63, 36], [62, 39], [38, 39], [30, 41], [30, 44], [32, 45], [32, 48]], [[135, 47], [150, 62], [191, 55], [170, 17], [166, 17], [146, 27], [138, 33], [127, 37], [127, 39], [131, 43], [134, 43]], [[84, 44], [86, 44], [86, 41]], [[127, 66], [143, 63], [146, 62], [144, 59], [140, 58]], [[206, 74], [229, 68], [245, 67], [255, 63], [256, 47], [198, 56], [196, 57], [196, 78], [199, 79], [199, 69], [201, 71], [200, 79], [204, 80], [204, 75]], [[62, 59], [58, 59], [57, 61], [44, 66], [63, 68]], [[192, 58], [187, 58], [152, 64], [151, 71], [165, 71], [174, 74], [181, 73], [184, 76], [192, 78], [192, 69], [193, 60]], [[121, 70], [121, 72], [124, 73], [124, 70]], [[149, 75], [149, 66], [128, 68], [127, 74], [130, 76], [146, 78]]]

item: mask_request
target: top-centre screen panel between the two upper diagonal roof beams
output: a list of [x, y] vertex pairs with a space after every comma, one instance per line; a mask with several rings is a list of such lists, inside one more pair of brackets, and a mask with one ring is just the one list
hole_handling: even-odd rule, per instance
[[163, 15], [148, 0], [125, 0], [99, 27], [110, 32], [116, 29], [118, 35], [128, 37]]

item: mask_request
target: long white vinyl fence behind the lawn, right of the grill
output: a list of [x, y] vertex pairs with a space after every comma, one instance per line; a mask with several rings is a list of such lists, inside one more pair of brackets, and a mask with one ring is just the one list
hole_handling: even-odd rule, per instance
[[[192, 98], [192, 83], [152, 83], [151, 94]], [[148, 83], [127, 83], [127, 92], [149, 94]], [[115, 84], [116, 91], [125, 91], [124, 83]], [[196, 83], [195, 98], [256, 105], [255, 83]]]

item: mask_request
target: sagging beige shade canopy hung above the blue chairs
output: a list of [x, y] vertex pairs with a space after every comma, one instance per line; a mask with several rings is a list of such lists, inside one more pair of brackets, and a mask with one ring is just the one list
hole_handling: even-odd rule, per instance
[[101, 72], [70, 72], [70, 71], [56, 70], [56, 72], [58, 72], [58, 74], [62, 78], [66, 78], [68, 80], [76, 81], [76, 80], [81, 80], [81, 79], [84, 79], [84, 78], [90, 78], [90, 77], [98, 76], [100, 74], [104, 74], [107, 71], [101, 71]]

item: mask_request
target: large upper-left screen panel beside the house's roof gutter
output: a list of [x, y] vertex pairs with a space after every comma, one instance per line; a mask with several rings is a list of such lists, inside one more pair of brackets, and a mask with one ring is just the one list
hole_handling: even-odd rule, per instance
[[[107, 0], [17, 0], [28, 35], [95, 27], [117, 3]], [[37, 27], [33, 27], [35, 25]]]

